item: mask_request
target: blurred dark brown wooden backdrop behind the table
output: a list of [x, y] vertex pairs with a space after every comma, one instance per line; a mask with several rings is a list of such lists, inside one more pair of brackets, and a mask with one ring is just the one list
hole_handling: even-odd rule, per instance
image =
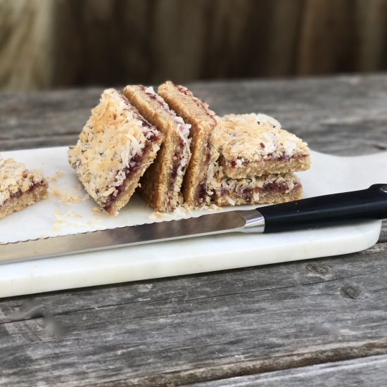
[[387, 68], [387, 0], [0, 0], [0, 90]]

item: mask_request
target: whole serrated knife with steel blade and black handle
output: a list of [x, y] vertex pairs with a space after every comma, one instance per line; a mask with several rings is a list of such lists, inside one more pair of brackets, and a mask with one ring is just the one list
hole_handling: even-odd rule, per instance
[[272, 233], [387, 218], [387, 184], [368, 189], [224, 211], [182, 220], [119, 227], [0, 245], [0, 263], [51, 258], [229, 232]]

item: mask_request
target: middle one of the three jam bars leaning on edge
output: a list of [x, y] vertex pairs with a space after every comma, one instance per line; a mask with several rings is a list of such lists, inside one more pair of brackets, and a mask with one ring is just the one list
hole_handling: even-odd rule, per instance
[[155, 162], [141, 178], [141, 194], [157, 211], [172, 212], [182, 202], [180, 190], [191, 157], [189, 129], [151, 87], [125, 87], [125, 96], [164, 135]]

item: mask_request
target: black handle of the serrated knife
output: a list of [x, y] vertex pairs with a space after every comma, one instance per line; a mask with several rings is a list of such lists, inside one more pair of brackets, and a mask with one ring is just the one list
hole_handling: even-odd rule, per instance
[[387, 184], [369, 189], [316, 196], [257, 208], [265, 218], [265, 233], [315, 229], [357, 220], [387, 218]]

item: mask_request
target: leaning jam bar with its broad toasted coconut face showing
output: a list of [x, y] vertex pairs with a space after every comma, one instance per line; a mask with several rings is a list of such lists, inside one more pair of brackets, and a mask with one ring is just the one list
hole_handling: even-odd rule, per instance
[[69, 149], [69, 163], [94, 201], [115, 215], [156, 158], [162, 140], [125, 96], [107, 89]]

